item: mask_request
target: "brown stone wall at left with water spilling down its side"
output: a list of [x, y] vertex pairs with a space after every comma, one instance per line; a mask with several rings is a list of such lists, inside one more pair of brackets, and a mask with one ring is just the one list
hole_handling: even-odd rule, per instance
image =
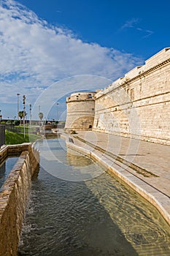
[[[28, 189], [39, 165], [39, 151], [31, 145], [23, 145], [24, 149], [0, 190], [0, 256], [17, 255]], [[22, 145], [7, 146], [0, 156], [20, 150]]]

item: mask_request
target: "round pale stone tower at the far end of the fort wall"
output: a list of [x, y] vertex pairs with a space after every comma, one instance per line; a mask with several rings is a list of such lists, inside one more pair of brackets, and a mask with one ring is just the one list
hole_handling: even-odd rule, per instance
[[66, 98], [66, 130], [92, 129], [96, 92], [77, 92]]

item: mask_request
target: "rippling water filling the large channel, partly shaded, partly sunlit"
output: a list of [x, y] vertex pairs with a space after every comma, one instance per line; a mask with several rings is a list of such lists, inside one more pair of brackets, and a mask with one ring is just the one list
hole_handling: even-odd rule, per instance
[[169, 225], [142, 197], [61, 139], [36, 146], [18, 256], [169, 255]]

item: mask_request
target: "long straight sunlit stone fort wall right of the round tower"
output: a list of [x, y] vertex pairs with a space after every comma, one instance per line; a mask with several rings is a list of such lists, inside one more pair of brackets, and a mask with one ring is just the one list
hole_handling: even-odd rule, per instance
[[93, 130], [170, 145], [170, 48], [98, 91]]

